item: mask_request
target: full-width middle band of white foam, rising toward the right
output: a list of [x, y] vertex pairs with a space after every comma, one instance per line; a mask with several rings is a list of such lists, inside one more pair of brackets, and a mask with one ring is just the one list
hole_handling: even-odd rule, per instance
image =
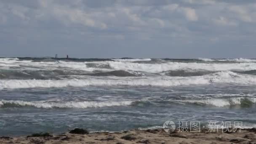
[[88, 85], [208, 85], [211, 83], [256, 84], [254, 75], [240, 75], [234, 72], [216, 72], [210, 75], [195, 77], [90, 77], [72, 80], [0, 80], [0, 88], [51, 88], [51, 87], [83, 87]]

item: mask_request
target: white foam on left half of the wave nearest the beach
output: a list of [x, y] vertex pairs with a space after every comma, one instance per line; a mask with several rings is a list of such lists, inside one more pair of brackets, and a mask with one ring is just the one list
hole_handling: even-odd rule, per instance
[[16, 106], [32, 106], [37, 108], [88, 108], [88, 107], [112, 107], [131, 105], [133, 101], [68, 101], [68, 102], [47, 102], [47, 101], [0, 101], [0, 107], [6, 104]]

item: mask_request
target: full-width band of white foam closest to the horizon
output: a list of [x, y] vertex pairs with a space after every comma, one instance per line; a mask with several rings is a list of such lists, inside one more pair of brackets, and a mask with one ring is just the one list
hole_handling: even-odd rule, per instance
[[[74, 62], [74, 61], [17, 61], [16, 59], [10, 60], [5, 58], [5, 62], [1, 62], [0, 67], [8, 69], [9, 67], [20, 67], [21, 69], [37, 70], [37, 69], [74, 69], [83, 70], [88, 72], [93, 71], [111, 71], [125, 70], [125, 71], [142, 71], [150, 73], [160, 73], [170, 70], [206, 70], [206, 71], [248, 71], [256, 69], [256, 63], [244, 62], [244, 63], [183, 63], [183, 62], [165, 62], [161, 64], [145, 64], [134, 63], [131, 61], [93, 61], [93, 62]], [[134, 59], [133, 59], [134, 60]], [[137, 59], [138, 60], [138, 59]], [[144, 59], [145, 60], [145, 59]], [[149, 59], [148, 59], [149, 60]], [[6, 62], [7, 61], [7, 62]], [[86, 64], [98, 64], [97, 67], [87, 67]], [[104, 66], [109, 66], [105, 68]], [[102, 66], [102, 67], [101, 67]]]

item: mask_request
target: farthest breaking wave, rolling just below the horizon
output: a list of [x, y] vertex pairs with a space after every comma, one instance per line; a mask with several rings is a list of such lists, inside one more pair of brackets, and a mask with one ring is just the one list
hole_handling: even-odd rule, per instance
[[[141, 62], [136, 62], [137, 60], [141, 60]], [[146, 60], [148, 61], [146, 62]], [[254, 61], [252, 59], [250, 60]], [[119, 60], [116, 60], [116, 61], [64, 61], [64, 60], [31, 61], [31, 60], [19, 60], [17, 58], [16, 59], [2, 58], [0, 59], [0, 70], [13, 70], [18, 72], [49, 71], [49, 73], [56, 69], [62, 70], [62, 71], [84, 71], [84, 72], [91, 72], [91, 73], [111, 72], [111, 71], [126, 71], [126, 72], [132, 71], [132, 72], [144, 72], [144, 73], [157, 74], [161, 72], [169, 72], [169, 76], [171, 75], [183, 76], [182, 73], [184, 74], [184, 76], [193, 76], [193, 75], [196, 76], [196, 75], [203, 75], [201, 73], [205, 73], [205, 72], [206, 74], [208, 74], [208, 72], [218, 72], [218, 71], [245, 72], [245, 71], [256, 70], [255, 62], [202, 63], [200, 61], [192, 61], [192, 62], [186, 62], [186, 61], [187, 60], [180, 60], [179, 62], [164, 60], [159, 62], [159, 61], [152, 61], [151, 59], [120, 59], [120, 61]], [[189, 74], [191, 72], [195, 72], [195, 74]], [[2, 76], [5, 75], [0, 72], [0, 75], [1, 74]], [[8, 76], [6, 78], [8, 78]], [[31, 77], [31, 78], [34, 78], [34, 77]]]

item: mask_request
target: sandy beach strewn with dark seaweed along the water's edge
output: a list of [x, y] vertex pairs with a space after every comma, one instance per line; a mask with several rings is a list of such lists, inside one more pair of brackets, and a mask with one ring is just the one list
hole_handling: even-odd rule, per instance
[[178, 132], [166, 133], [163, 129], [131, 130], [89, 134], [64, 133], [45, 137], [1, 137], [0, 144], [256, 144], [256, 129], [222, 133]]

